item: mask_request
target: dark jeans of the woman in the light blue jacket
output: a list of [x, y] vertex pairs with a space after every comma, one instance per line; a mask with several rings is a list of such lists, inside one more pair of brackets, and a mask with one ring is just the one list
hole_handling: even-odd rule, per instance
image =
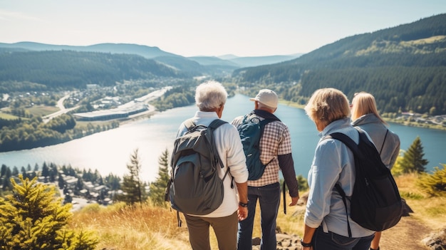
[[331, 231], [324, 233], [322, 226], [313, 236], [313, 250], [368, 250], [375, 234], [361, 238], [348, 238]]

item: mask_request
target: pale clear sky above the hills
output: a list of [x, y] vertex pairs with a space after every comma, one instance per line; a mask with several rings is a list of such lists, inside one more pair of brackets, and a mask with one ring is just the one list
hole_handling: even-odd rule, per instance
[[0, 0], [0, 43], [291, 55], [437, 14], [446, 14], [446, 0]]

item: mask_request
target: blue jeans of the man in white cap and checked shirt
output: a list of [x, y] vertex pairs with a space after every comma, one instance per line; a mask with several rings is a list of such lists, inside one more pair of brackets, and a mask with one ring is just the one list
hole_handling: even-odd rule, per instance
[[248, 186], [248, 217], [239, 222], [237, 249], [252, 249], [252, 227], [259, 199], [261, 217], [261, 250], [276, 250], [276, 218], [280, 204], [279, 182], [263, 187]]

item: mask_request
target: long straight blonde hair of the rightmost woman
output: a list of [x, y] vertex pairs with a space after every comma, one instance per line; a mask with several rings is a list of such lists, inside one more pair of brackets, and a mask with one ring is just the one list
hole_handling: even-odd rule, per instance
[[387, 125], [378, 113], [375, 98], [372, 94], [366, 92], [355, 93], [355, 95], [353, 95], [353, 100], [351, 100], [351, 105], [351, 120], [354, 121], [363, 115], [371, 113], [374, 114], [381, 123]]

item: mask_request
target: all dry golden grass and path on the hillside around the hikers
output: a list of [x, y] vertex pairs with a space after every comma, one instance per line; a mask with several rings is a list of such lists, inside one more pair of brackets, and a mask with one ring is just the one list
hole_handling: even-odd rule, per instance
[[[446, 198], [427, 197], [427, 194], [416, 187], [418, 175], [403, 175], [395, 179], [402, 197], [413, 209], [413, 213], [410, 217], [403, 217], [397, 226], [383, 233], [383, 249], [398, 249], [398, 246], [401, 246], [397, 244], [398, 242], [406, 242], [408, 247], [416, 246], [424, 249], [420, 245], [420, 239], [446, 225]], [[286, 202], [290, 202], [289, 197]], [[304, 205], [286, 208], [287, 213], [284, 214], [284, 207], [281, 204], [277, 226], [282, 232], [301, 236], [304, 229]], [[80, 212], [75, 212], [70, 226], [96, 231], [100, 238], [97, 249], [101, 250], [188, 250], [191, 248], [184, 217], [182, 222], [182, 227], [178, 227], [177, 213], [168, 208], [150, 205], [129, 208], [123, 204], [100, 207], [91, 204]], [[212, 249], [218, 249], [212, 230], [210, 235]], [[253, 237], [260, 236], [260, 216], [257, 206]]]

